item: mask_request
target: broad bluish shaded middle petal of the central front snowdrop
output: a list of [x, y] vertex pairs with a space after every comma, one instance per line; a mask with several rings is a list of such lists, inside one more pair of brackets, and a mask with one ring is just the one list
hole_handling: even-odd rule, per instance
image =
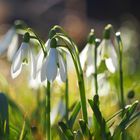
[[57, 76], [58, 54], [56, 48], [50, 48], [46, 68], [47, 80], [52, 82]]

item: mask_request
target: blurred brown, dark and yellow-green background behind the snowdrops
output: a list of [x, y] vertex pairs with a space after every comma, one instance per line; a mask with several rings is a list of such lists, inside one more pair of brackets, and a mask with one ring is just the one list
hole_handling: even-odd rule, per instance
[[[138, 1], [133, 0], [1, 0], [0, 1], [0, 36], [12, 26], [15, 20], [24, 20], [32, 27], [44, 41], [48, 38], [49, 29], [61, 25], [78, 44], [81, 51], [86, 44], [86, 38], [91, 28], [102, 39], [104, 26], [111, 23], [115, 31], [122, 32], [124, 43], [124, 84], [125, 100], [129, 104], [140, 99], [140, 12]], [[35, 90], [29, 87], [27, 70], [16, 79], [10, 76], [10, 62], [5, 55], [0, 57], [0, 91], [5, 92], [12, 99], [23, 114], [30, 118], [30, 125], [38, 126], [34, 110], [38, 107], [38, 99], [43, 100], [43, 88]], [[75, 72], [70, 77], [70, 105], [79, 100]], [[115, 79], [115, 77], [113, 77]], [[115, 79], [116, 80], [116, 79]], [[114, 80], [114, 81], [115, 81]], [[116, 80], [117, 81], [117, 80]], [[72, 88], [71, 88], [72, 87]], [[132, 100], [127, 98], [130, 90], [135, 91]], [[54, 83], [52, 89], [52, 107], [55, 107], [64, 96], [64, 85]], [[109, 96], [101, 97], [101, 109], [105, 118], [118, 110], [117, 90], [113, 89]], [[113, 93], [113, 94], [112, 94]], [[75, 96], [77, 95], [77, 96]], [[88, 98], [91, 95], [87, 95]], [[140, 108], [140, 107], [139, 107]], [[139, 109], [138, 108], [138, 109]], [[10, 119], [16, 127], [21, 128], [24, 116], [13, 115]], [[89, 110], [90, 111], [90, 110]], [[17, 113], [18, 114], [18, 113]], [[22, 120], [22, 121], [21, 121]], [[57, 122], [57, 120], [56, 120]], [[130, 135], [139, 140], [140, 120], [131, 128]], [[134, 131], [133, 131], [134, 130]], [[134, 133], [132, 133], [134, 132]], [[36, 139], [41, 140], [41, 130]]]

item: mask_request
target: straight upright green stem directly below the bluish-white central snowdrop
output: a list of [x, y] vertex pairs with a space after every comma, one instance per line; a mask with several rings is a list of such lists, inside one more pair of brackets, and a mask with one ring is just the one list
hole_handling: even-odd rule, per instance
[[47, 131], [46, 131], [46, 140], [51, 140], [51, 102], [50, 102], [50, 82], [47, 81], [47, 89], [46, 89], [46, 117], [47, 117]]

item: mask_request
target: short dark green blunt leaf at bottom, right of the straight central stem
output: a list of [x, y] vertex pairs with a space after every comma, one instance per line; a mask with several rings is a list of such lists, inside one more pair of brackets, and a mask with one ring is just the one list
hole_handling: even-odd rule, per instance
[[74, 135], [69, 127], [64, 122], [59, 122], [58, 125], [60, 126], [63, 134], [67, 138], [67, 140], [74, 140]]

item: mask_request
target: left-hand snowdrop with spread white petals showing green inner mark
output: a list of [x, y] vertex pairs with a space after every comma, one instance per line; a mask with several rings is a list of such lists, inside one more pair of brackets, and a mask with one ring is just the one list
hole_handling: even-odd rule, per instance
[[34, 71], [34, 64], [33, 61], [33, 54], [31, 51], [31, 48], [29, 46], [29, 33], [25, 33], [24, 35], [24, 41], [22, 42], [20, 48], [16, 52], [13, 61], [12, 61], [12, 66], [11, 66], [11, 75], [12, 78], [16, 78], [22, 70], [22, 66], [24, 64], [30, 63], [31, 67], [31, 75], [34, 77], [35, 76], [35, 71]]

